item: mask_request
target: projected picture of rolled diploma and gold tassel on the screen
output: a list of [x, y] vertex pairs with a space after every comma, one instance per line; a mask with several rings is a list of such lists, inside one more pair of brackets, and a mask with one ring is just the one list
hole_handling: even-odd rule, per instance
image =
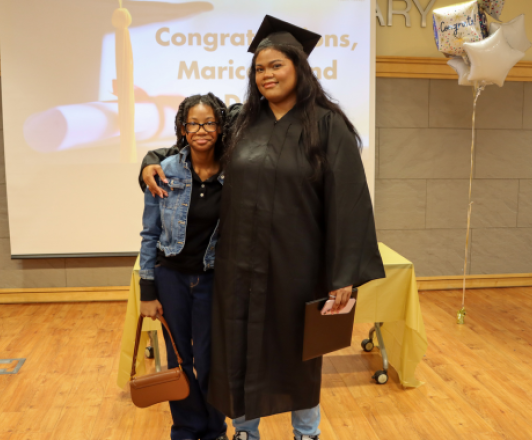
[[[32, 114], [26, 119], [23, 130], [33, 150], [53, 153], [120, 145], [117, 160], [135, 163], [137, 146], [168, 147], [175, 138], [174, 118], [184, 97], [178, 94], [150, 96], [135, 86], [134, 62], [149, 60], [133, 59], [129, 29], [185, 19], [211, 11], [213, 6], [202, 1], [112, 1], [118, 8], [106, 19], [115, 35], [116, 79], [108, 88], [112, 89], [116, 100], [67, 104]], [[112, 1], [100, 0], [106, 4]]]

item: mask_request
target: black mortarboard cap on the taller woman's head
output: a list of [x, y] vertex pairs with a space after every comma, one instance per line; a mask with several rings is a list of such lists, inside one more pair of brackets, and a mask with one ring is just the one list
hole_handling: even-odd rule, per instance
[[255, 53], [259, 44], [266, 38], [274, 44], [288, 44], [298, 47], [307, 55], [310, 55], [320, 41], [321, 35], [294, 26], [271, 15], [266, 15], [251, 42], [251, 46], [249, 46], [248, 52]]

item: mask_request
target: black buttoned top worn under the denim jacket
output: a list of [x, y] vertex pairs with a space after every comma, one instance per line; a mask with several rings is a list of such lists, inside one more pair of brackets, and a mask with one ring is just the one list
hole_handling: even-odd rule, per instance
[[[188, 210], [185, 247], [178, 255], [169, 257], [157, 249], [156, 264], [181, 273], [199, 274], [204, 273], [203, 259], [220, 217], [222, 184], [218, 182], [220, 173], [202, 181], [194, 171], [194, 167], [190, 166], [190, 169], [192, 171], [192, 194]], [[140, 299], [141, 301], [157, 299], [154, 280], [140, 280]]]

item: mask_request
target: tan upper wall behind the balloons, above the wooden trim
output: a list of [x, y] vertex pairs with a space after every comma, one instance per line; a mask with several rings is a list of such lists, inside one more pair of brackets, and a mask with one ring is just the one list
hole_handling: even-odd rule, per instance
[[[393, 3], [394, 8], [404, 9], [405, 2], [401, 0], [377, 0], [386, 23], [388, 2]], [[430, 0], [419, 0], [426, 7]], [[461, 0], [436, 0], [434, 8], [462, 3]], [[406, 57], [443, 57], [436, 49], [434, 33], [432, 30], [432, 11], [427, 15], [427, 27], [421, 27], [421, 15], [412, 2], [410, 17], [412, 27], [405, 26], [403, 16], [394, 15], [392, 26], [382, 27], [377, 23], [377, 55], [378, 56], [406, 56]], [[501, 19], [510, 21], [520, 14], [526, 14], [528, 38], [532, 41], [532, 1], [531, 0], [507, 0]], [[491, 18], [489, 20], [492, 21]], [[523, 59], [532, 61], [532, 50], [529, 50]]]

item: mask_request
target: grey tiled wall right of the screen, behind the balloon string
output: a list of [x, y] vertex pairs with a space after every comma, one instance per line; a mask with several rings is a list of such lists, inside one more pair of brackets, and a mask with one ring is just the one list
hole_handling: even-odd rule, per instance
[[[472, 93], [455, 81], [377, 79], [379, 240], [419, 276], [463, 272]], [[478, 104], [470, 274], [532, 272], [532, 84]]]

